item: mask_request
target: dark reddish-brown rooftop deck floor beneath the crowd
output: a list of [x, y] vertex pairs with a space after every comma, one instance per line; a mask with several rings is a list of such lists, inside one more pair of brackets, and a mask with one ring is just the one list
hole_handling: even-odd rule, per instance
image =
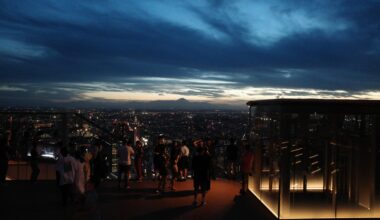
[[[175, 192], [155, 193], [157, 182], [132, 182], [132, 189], [119, 190], [115, 181], [98, 190], [101, 219], [274, 219], [261, 203], [236, 197], [238, 182], [212, 182], [206, 206], [193, 207], [192, 181], [177, 182]], [[0, 219], [91, 219], [72, 207], [63, 208], [53, 181], [8, 182], [0, 189]], [[199, 197], [200, 199], [200, 197]]]

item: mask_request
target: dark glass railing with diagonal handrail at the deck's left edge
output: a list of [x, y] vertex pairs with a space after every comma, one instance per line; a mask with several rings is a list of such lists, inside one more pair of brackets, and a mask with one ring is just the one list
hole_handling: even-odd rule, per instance
[[115, 130], [108, 129], [111, 124], [99, 125], [87, 115], [71, 111], [3, 111], [0, 112], [0, 122], [1, 134], [9, 136], [7, 180], [31, 178], [33, 144], [37, 145], [39, 155], [38, 180], [54, 180], [55, 163], [61, 147], [67, 147], [72, 155], [78, 150], [91, 152], [94, 140], [102, 143], [111, 174], [114, 171], [112, 163], [115, 163], [112, 148], [119, 145], [122, 137], [130, 135], [116, 134]]

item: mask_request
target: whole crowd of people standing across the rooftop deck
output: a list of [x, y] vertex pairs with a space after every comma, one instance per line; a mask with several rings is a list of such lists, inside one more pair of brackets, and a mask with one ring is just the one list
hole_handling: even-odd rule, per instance
[[[0, 148], [0, 181], [5, 182], [7, 166], [7, 139], [2, 138]], [[201, 205], [206, 204], [206, 193], [211, 188], [211, 179], [215, 178], [216, 151], [214, 142], [210, 139], [198, 139], [191, 143], [189, 149], [186, 143], [173, 141], [171, 145], [165, 143], [163, 137], [158, 137], [153, 149], [153, 175], [157, 182], [156, 192], [165, 193], [166, 190], [175, 191], [176, 182], [186, 181], [189, 176], [193, 179], [194, 201], [198, 204], [198, 194], [201, 193]], [[238, 156], [238, 147], [233, 139], [225, 150], [227, 159], [227, 177], [234, 176], [241, 171], [242, 189], [241, 193], [247, 190], [248, 175], [252, 171], [253, 153], [249, 145], [245, 146], [244, 153]], [[73, 147], [71, 149], [74, 149]], [[146, 176], [145, 147], [140, 141], [133, 143], [131, 140], [124, 140], [117, 150], [118, 157], [118, 188], [130, 189], [130, 179], [132, 172], [136, 181], [142, 182]], [[241, 163], [237, 163], [238, 157]], [[6, 162], [5, 162], [6, 161]], [[39, 175], [37, 142], [33, 142], [30, 157], [31, 182], [35, 183]], [[237, 167], [241, 167], [238, 170]], [[93, 143], [93, 148], [80, 149], [69, 153], [66, 147], [61, 147], [56, 162], [57, 186], [61, 191], [62, 205], [68, 202], [84, 205], [86, 198], [96, 198], [90, 196], [96, 194], [96, 189], [109, 173], [109, 163], [107, 155], [104, 153], [102, 142]], [[189, 172], [191, 171], [191, 175]]]

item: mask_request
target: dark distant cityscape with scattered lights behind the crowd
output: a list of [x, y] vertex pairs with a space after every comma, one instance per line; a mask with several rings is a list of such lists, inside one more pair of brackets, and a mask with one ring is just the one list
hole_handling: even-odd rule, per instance
[[[33, 142], [38, 143], [42, 159], [53, 162], [61, 146], [72, 151], [90, 149], [96, 140], [109, 146], [110, 155], [114, 155], [122, 140], [140, 140], [149, 157], [157, 138], [163, 136], [167, 146], [181, 141], [190, 149], [197, 139], [212, 140], [223, 169], [224, 150], [230, 140], [244, 138], [248, 111], [3, 108], [0, 122], [0, 133], [11, 133], [11, 160], [17, 165], [28, 160]], [[112, 170], [116, 169], [114, 160], [110, 160]], [[19, 170], [14, 178], [22, 179]]]

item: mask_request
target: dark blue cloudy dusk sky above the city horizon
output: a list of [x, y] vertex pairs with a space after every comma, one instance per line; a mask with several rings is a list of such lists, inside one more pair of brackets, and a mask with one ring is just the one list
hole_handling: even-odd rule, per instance
[[0, 105], [380, 99], [380, 1], [0, 0]]

